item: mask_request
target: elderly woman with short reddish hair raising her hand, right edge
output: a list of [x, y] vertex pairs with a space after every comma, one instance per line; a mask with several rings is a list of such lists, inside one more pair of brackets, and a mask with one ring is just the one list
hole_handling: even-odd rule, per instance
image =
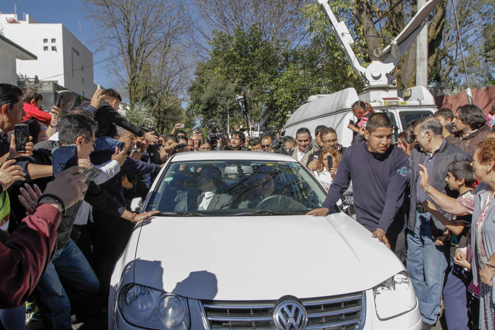
[[[481, 330], [495, 329], [495, 139], [486, 138], [478, 144], [473, 155], [474, 178], [481, 181], [474, 191], [472, 205], [452, 200], [447, 196], [435, 196], [427, 180], [420, 185], [432, 200], [453, 215], [466, 215], [472, 206], [473, 222], [471, 224], [471, 268], [473, 282], [481, 282], [480, 325]], [[420, 173], [421, 174], [421, 173]], [[423, 170], [421, 176], [427, 175]], [[457, 254], [456, 254], [457, 257]]]

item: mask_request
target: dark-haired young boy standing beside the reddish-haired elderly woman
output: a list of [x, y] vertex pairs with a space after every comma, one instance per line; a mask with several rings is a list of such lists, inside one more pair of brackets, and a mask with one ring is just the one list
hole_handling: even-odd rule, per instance
[[[423, 177], [424, 173], [427, 172], [422, 165], [420, 166], [423, 168], [423, 174], [421, 174]], [[449, 189], [459, 191], [459, 197], [457, 197], [456, 202], [472, 210], [475, 179], [469, 160], [456, 160], [448, 164], [445, 181]], [[439, 191], [430, 187], [427, 193], [429, 197], [438, 203], [436, 195], [440, 193]], [[445, 195], [443, 195], [443, 198], [451, 199], [455, 202], [454, 198]], [[437, 237], [436, 240], [437, 245], [450, 244], [450, 272], [446, 275], [443, 290], [447, 327], [448, 329], [468, 329], [468, 322], [470, 321], [468, 318], [468, 300], [470, 299], [468, 299], [466, 288], [472, 280], [472, 274], [465, 272], [463, 267], [454, 263], [454, 257], [457, 248], [466, 246], [466, 235], [469, 233], [471, 226], [471, 215], [452, 216], [447, 219], [431, 201], [426, 200], [423, 203], [423, 207], [447, 228], [445, 235]]]

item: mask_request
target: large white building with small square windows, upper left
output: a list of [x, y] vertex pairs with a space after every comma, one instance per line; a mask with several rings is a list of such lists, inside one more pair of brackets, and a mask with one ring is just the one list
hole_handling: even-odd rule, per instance
[[0, 14], [0, 34], [38, 56], [16, 62], [17, 74], [40, 81], [56, 81], [66, 89], [91, 98], [93, 53], [61, 23], [38, 23], [28, 14]]

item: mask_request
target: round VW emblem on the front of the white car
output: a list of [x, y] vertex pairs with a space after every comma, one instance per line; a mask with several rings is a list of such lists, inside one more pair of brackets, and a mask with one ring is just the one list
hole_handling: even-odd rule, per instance
[[294, 296], [284, 296], [275, 303], [273, 324], [276, 330], [304, 330], [308, 314], [302, 303]]

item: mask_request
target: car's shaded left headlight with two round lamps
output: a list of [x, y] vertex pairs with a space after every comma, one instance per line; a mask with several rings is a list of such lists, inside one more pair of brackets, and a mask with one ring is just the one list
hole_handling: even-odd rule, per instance
[[124, 319], [139, 327], [189, 330], [191, 324], [186, 298], [145, 285], [124, 286], [118, 306]]

